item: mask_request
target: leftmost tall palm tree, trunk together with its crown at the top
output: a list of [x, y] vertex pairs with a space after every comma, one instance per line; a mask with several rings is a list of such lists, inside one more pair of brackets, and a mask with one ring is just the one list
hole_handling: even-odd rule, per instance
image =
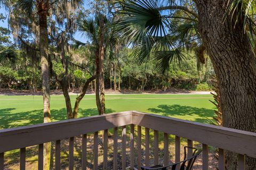
[[[65, 4], [63, 4], [65, 3]], [[38, 20], [39, 33], [37, 39], [39, 39], [39, 56], [41, 58], [42, 69], [42, 89], [43, 89], [43, 106], [44, 106], [44, 123], [51, 122], [50, 112], [50, 72], [49, 72], [49, 37], [47, 30], [47, 18], [50, 13], [54, 11], [61, 11], [67, 14], [70, 10], [70, 6], [76, 7], [81, 4], [81, 0], [75, 1], [52, 1], [52, 0], [19, 0], [18, 7], [25, 12], [29, 18], [34, 16]], [[58, 9], [58, 10], [54, 10]], [[55, 13], [58, 16], [58, 13]], [[50, 151], [51, 143], [45, 143], [44, 145], [44, 169], [50, 169]]]

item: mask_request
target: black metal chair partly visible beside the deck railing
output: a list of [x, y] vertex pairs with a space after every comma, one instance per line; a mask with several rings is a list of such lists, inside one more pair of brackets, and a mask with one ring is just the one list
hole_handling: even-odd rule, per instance
[[[193, 149], [193, 155], [190, 157], [190, 158], [187, 158], [187, 151], [186, 149]], [[199, 154], [201, 154], [202, 150], [198, 150], [196, 148], [192, 148], [192, 147], [184, 147], [184, 160], [182, 160], [181, 162], [179, 163], [175, 163], [175, 164], [171, 164], [171, 165], [167, 165], [167, 166], [162, 166], [162, 165], [155, 165], [155, 166], [151, 166], [151, 167], [145, 167], [145, 166], [141, 166], [141, 169], [142, 170], [166, 170], [167, 168], [171, 168], [171, 170], [175, 170], [176, 167], [178, 165], [180, 165], [180, 170], [191, 170], [194, 163], [195, 163], [195, 160], [197, 158], [197, 156]], [[187, 164], [186, 164], [187, 163]]]

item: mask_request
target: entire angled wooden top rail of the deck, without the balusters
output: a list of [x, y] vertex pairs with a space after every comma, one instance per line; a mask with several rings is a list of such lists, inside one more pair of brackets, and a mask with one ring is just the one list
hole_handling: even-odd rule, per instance
[[256, 133], [137, 111], [0, 130], [0, 153], [129, 124], [256, 158]]

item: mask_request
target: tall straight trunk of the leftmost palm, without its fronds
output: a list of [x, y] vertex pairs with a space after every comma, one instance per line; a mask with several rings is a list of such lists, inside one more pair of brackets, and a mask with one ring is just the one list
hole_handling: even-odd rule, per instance
[[[44, 1], [39, 3], [39, 48], [42, 69], [42, 89], [44, 104], [44, 123], [51, 122], [50, 112], [50, 74], [49, 74], [49, 56], [48, 56], [48, 33], [47, 33], [47, 8], [48, 5]], [[51, 158], [51, 142], [44, 143], [44, 169], [50, 169]]]

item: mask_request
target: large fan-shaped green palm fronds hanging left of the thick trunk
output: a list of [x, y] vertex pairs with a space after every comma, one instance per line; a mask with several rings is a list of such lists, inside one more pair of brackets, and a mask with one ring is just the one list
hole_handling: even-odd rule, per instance
[[151, 56], [156, 61], [156, 69], [163, 74], [167, 73], [170, 62], [182, 61], [182, 49], [172, 43], [170, 20], [161, 15], [158, 1], [129, 0], [118, 3], [121, 10], [117, 14], [124, 14], [125, 17], [116, 23], [116, 29], [130, 40], [135, 60], [142, 63]]

